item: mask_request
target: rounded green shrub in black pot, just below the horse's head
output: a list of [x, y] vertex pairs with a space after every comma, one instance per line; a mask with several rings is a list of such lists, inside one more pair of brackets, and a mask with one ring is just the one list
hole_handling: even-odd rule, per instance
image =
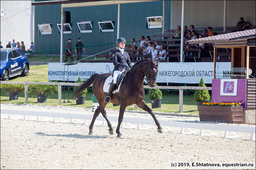
[[151, 100], [152, 108], [161, 108], [162, 92], [159, 88], [150, 88], [149, 98]]

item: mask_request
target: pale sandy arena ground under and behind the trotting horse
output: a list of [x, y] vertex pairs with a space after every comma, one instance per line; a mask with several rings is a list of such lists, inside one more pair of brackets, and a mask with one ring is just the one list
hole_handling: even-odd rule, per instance
[[[31, 110], [58, 113], [90, 114], [89, 108], [1, 104], [1, 109]], [[106, 110], [108, 116], [118, 111]], [[161, 113], [160, 113], [161, 114]], [[175, 114], [174, 114], [175, 115]], [[152, 119], [149, 114], [125, 112], [124, 117]], [[158, 120], [200, 122], [198, 117], [159, 115]], [[121, 128], [121, 138], [110, 135], [107, 126], [95, 122], [94, 134], [88, 135], [89, 124], [52, 120], [36, 121], [23, 116], [8, 119], [1, 114], [1, 169], [255, 169], [255, 141], [250, 134], [237, 133], [240, 138], [223, 138], [224, 132], [214, 136], [198, 133], [180, 134], [180, 128], [158, 133], [156, 126], [138, 130]], [[66, 122], [65, 122], [66, 121]], [[233, 125], [255, 127], [255, 125]], [[112, 123], [116, 129], [117, 123]], [[166, 129], [166, 127], [163, 127]], [[172, 167], [177, 163], [176, 167]], [[186, 166], [178, 167], [179, 163]], [[200, 166], [193, 166], [200, 165]], [[204, 166], [208, 163], [208, 166]], [[219, 163], [220, 166], [215, 166]], [[240, 166], [225, 166], [237, 163]], [[242, 166], [244, 163], [253, 166]], [[209, 165], [210, 164], [210, 165]], [[224, 166], [222, 166], [224, 164]], [[181, 164], [182, 165], [182, 164]]]

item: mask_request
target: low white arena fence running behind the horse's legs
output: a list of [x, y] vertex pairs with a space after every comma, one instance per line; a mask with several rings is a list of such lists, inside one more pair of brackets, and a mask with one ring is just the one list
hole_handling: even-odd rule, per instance
[[[53, 122], [55, 122], [56, 118], [70, 118], [70, 123], [72, 123], [72, 119], [82, 119], [84, 120], [84, 124], [86, 120], [92, 120], [93, 115], [85, 115], [85, 114], [72, 114], [72, 113], [50, 113], [50, 112], [35, 112], [35, 111], [24, 111], [24, 110], [3, 110], [0, 109], [0, 114], [8, 114], [9, 119], [11, 115], [24, 115], [24, 120], [26, 116], [37, 116], [37, 121], [39, 121], [40, 117], [51, 117], [54, 118]], [[111, 122], [118, 122], [118, 117], [108, 116], [107, 117]], [[102, 121], [102, 126], [106, 121], [102, 115], [99, 115], [96, 118], [97, 121]], [[181, 128], [180, 133], [197, 133], [191, 129], [200, 129], [200, 136], [201, 135], [215, 135], [216, 133], [212, 133], [210, 130], [217, 130], [217, 131], [225, 131], [224, 138], [237, 138], [241, 137], [237, 135], [236, 132], [239, 133], [250, 133], [251, 139], [255, 140], [255, 127], [241, 127], [241, 126], [232, 126], [232, 125], [218, 125], [218, 124], [209, 124], [209, 123], [189, 123], [189, 122], [176, 122], [176, 121], [164, 121], [159, 120], [161, 126], [166, 126], [168, 129], [164, 131], [172, 131], [169, 127], [178, 127]], [[138, 124], [138, 129], [141, 128], [141, 125], [155, 125], [155, 121], [153, 119], [142, 119], [142, 118], [123, 118], [123, 123], [136, 123]], [[121, 128], [124, 125], [121, 125]], [[148, 126], [147, 126], [148, 127]], [[188, 128], [189, 132], [184, 132], [185, 128]], [[207, 130], [208, 133], [204, 133]], [[228, 136], [228, 133], [233, 133], [233, 136]]]

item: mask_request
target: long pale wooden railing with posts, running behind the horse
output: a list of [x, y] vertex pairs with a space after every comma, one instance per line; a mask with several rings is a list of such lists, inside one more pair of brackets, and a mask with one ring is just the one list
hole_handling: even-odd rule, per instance
[[[81, 83], [57, 83], [57, 82], [6, 82], [0, 81], [1, 84], [24, 84], [25, 88], [25, 102], [28, 102], [28, 84], [46, 84], [46, 85], [58, 85], [58, 101], [61, 105], [61, 86], [79, 86]], [[144, 86], [149, 89], [150, 87]], [[193, 86], [155, 86], [159, 89], [179, 89], [179, 112], [183, 112], [183, 90], [212, 90], [211, 87], [193, 87]]]

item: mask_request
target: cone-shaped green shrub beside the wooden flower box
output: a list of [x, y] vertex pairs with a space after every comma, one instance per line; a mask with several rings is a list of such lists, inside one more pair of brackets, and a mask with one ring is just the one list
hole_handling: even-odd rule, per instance
[[[200, 80], [199, 87], [206, 87], [204, 84], [203, 77]], [[195, 101], [197, 102], [198, 106], [201, 106], [202, 103], [208, 102], [210, 99], [209, 91], [208, 90], [196, 90], [194, 94]]]

